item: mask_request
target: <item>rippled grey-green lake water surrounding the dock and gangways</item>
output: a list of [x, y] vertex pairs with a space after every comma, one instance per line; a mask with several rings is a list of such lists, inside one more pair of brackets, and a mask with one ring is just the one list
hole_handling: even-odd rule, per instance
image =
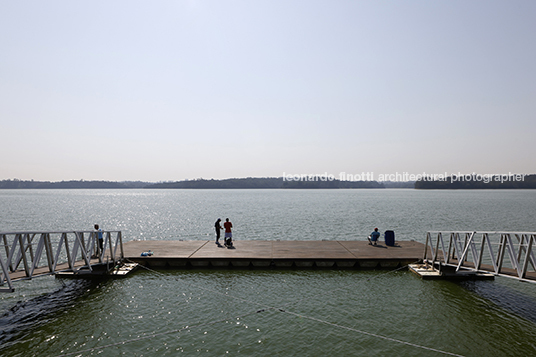
[[[0, 231], [121, 230], [125, 240], [365, 239], [374, 227], [536, 231], [536, 191], [0, 190]], [[0, 295], [0, 355], [536, 355], [536, 284], [406, 270], [141, 270], [53, 277]]]

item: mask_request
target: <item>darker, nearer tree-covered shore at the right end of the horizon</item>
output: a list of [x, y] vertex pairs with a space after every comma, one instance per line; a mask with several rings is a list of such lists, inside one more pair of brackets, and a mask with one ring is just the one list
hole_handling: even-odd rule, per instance
[[475, 189], [536, 189], [536, 174], [523, 175], [522, 180], [503, 179], [501, 175], [489, 177], [477, 177], [477, 179], [463, 179], [460, 177], [446, 177], [445, 180], [426, 181], [420, 180], [415, 182], [416, 189], [433, 189], [433, 190], [475, 190]]

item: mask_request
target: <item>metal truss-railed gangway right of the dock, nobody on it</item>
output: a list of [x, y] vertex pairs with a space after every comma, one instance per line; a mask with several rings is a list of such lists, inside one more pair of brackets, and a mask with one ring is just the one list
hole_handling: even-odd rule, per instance
[[536, 232], [431, 231], [424, 263], [454, 273], [472, 271], [536, 283]]

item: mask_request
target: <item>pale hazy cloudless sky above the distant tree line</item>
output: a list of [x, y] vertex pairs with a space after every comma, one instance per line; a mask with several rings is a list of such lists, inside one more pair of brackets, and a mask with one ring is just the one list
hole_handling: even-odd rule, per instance
[[0, 0], [0, 179], [535, 173], [536, 1]]

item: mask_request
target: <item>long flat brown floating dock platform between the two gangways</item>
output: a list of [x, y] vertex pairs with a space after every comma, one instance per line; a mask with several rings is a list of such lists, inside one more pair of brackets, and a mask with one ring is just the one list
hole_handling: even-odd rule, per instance
[[[399, 241], [394, 246], [368, 241], [234, 241], [235, 249], [211, 241], [130, 241], [125, 258], [153, 267], [344, 267], [393, 268], [421, 260], [425, 246]], [[141, 256], [142, 252], [152, 256]]]

